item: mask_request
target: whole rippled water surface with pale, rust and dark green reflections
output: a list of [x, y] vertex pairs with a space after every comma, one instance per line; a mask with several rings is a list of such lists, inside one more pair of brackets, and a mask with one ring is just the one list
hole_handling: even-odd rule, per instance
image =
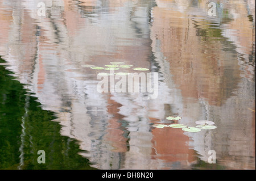
[[[255, 169], [254, 1], [1, 0], [0, 24], [0, 169]], [[98, 92], [82, 65], [113, 61], [157, 98]]]

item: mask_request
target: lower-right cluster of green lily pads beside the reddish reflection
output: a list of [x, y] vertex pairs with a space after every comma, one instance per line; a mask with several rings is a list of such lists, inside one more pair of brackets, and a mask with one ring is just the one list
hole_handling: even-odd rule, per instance
[[[166, 119], [168, 120], [180, 120], [181, 117], [176, 116], [176, 117], [166, 117]], [[200, 132], [201, 129], [215, 129], [217, 128], [216, 126], [214, 126], [214, 122], [213, 121], [196, 121], [196, 124], [198, 124], [196, 127], [188, 127], [188, 125], [184, 125], [184, 124], [170, 124], [170, 125], [166, 125], [166, 124], [156, 124], [153, 125], [153, 127], [156, 128], [164, 128], [164, 127], [171, 127], [171, 128], [181, 128], [183, 131], [185, 132]]]

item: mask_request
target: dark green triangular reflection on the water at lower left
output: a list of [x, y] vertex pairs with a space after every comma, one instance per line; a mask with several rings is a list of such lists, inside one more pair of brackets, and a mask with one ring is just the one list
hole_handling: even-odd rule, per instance
[[[77, 154], [79, 145], [60, 135], [53, 113], [10, 74], [0, 65], [0, 169], [93, 169]], [[45, 164], [38, 163], [38, 150], [46, 152]]]

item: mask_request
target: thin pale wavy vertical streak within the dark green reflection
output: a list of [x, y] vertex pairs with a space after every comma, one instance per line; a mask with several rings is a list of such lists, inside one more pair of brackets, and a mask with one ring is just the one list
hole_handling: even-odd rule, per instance
[[22, 166], [24, 165], [24, 142], [25, 142], [25, 136], [26, 136], [26, 119], [28, 116], [28, 107], [30, 103], [29, 100], [30, 100], [30, 96], [27, 95], [25, 98], [25, 106], [24, 106], [25, 113], [22, 116], [22, 124], [21, 124], [22, 134], [20, 134], [21, 144], [19, 147], [19, 152], [20, 152], [20, 155], [19, 155], [20, 159], [19, 159], [19, 166], [18, 166], [19, 170], [22, 169]]

